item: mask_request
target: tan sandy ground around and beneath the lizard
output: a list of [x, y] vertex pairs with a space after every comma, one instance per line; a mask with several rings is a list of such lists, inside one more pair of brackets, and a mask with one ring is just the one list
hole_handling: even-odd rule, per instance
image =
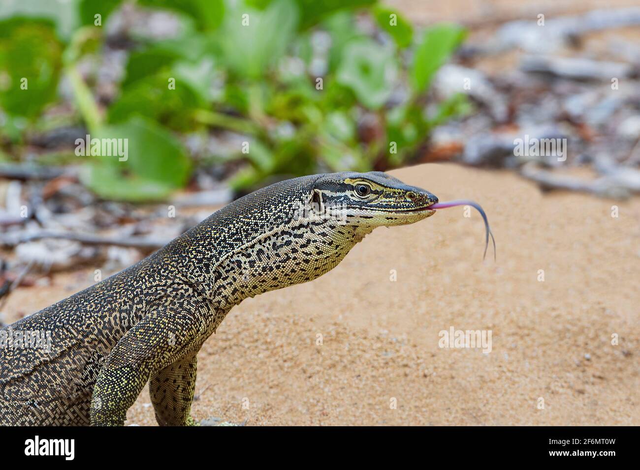
[[[543, 195], [511, 173], [454, 165], [392, 174], [442, 201], [479, 201], [497, 262], [483, 262], [481, 218], [463, 208], [375, 230], [322, 278], [229, 313], [198, 355], [194, 416], [247, 425], [640, 425], [640, 200]], [[17, 290], [5, 312], [43, 308], [89, 285], [92, 273]], [[440, 348], [438, 333], [451, 327], [491, 330], [491, 352]], [[155, 424], [146, 389], [128, 418]]]

